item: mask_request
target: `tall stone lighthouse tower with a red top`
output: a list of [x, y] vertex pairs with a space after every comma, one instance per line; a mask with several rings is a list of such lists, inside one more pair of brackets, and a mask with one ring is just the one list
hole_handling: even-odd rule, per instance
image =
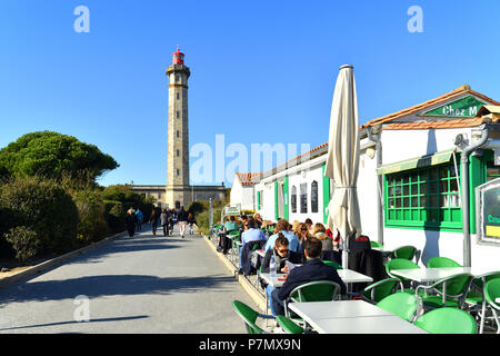
[[167, 69], [169, 78], [169, 122], [166, 202], [179, 209], [191, 202], [189, 186], [189, 129], [188, 129], [188, 78], [184, 53], [179, 49], [172, 55]]

